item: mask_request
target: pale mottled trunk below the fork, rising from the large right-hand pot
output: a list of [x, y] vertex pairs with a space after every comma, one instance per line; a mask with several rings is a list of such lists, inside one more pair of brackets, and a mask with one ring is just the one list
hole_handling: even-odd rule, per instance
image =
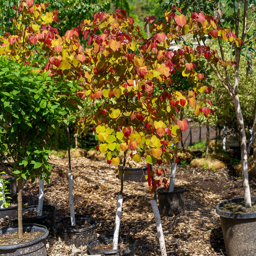
[[241, 167], [242, 167], [243, 188], [244, 188], [244, 206], [246, 208], [250, 208], [251, 198], [250, 198], [250, 186], [249, 186], [249, 180], [248, 180], [246, 134], [245, 134], [245, 128], [244, 128], [244, 119], [241, 113], [238, 94], [235, 94], [233, 96], [233, 101], [235, 105], [236, 119], [237, 119], [237, 125], [239, 128], [239, 136], [240, 136], [240, 143], [241, 143]]

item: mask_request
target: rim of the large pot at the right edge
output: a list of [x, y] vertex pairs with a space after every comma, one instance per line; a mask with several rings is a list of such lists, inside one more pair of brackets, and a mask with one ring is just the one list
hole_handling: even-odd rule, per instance
[[[234, 198], [234, 199], [221, 202], [216, 206], [216, 213], [220, 217], [226, 217], [226, 218], [256, 218], [256, 212], [225, 212], [220, 209], [220, 207], [223, 206], [224, 204], [228, 204], [232, 202], [237, 203], [242, 200], [244, 200], [244, 198]], [[256, 197], [251, 197], [251, 201], [255, 202]]]

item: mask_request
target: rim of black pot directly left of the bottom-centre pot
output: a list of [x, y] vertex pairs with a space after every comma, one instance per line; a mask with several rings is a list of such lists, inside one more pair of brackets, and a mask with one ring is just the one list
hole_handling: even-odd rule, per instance
[[83, 233], [85, 231], [93, 230], [97, 225], [97, 221], [92, 216], [75, 215], [75, 220], [84, 220], [84, 221], [89, 220], [89, 221], [93, 222], [93, 224], [91, 224], [89, 227], [85, 227], [85, 228], [81, 228], [81, 229], [76, 229], [76, 228], [64, 229], [62, 227], [58, 227], [58, 225], [61, 222], [64, 222], [67, 220], [70, 220], [70, 217], [61, 218], [59, 221], [55, 222], [55, 224], [54, 224], [55, 229], [61, 233]]

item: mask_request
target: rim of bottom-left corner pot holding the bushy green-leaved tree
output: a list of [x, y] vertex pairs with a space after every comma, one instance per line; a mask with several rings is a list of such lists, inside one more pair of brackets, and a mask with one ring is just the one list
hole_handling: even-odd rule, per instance
[[[42, 230], [44, 229], [44, 233], [39, 236], [38, 238], [36, 239], [33, 239], [31, 241], [28, 241], [28, 242], [25, 242], [25, 243], [21, 243], [21, 244], [9, 244], [9, 245], [0, 245], [0, 250], [10, 250], [10, 249], [18, 249], [18, 248], [22, 248], [22, 247], [26, 247], [26, 246], [29, 246], [29, 244], [36, 244], [37, 242], [43, 240], [43, 239], [46, 239], [47, 236], [49, 235], [49, 230], [47, 230], [47, 227], [43, 226], [43, 225], [40, 225], [40, 224], [35, 224], [35, 223], [24, 223], [22, 225], [23, 229], [26, 228], [26, 227], [29, 227], [29, 226], [32, 226], [32, 228], [35, 226], [35, 227], [38, 227], [39, 230]], [[6, 227], [1, 227], [0, 230], [2, 229], [13, 229], [13, 228], [17, 228], [18, 229], [18, 224], [16, 225], [12, 225], [12, 226], [6, 226]]]

